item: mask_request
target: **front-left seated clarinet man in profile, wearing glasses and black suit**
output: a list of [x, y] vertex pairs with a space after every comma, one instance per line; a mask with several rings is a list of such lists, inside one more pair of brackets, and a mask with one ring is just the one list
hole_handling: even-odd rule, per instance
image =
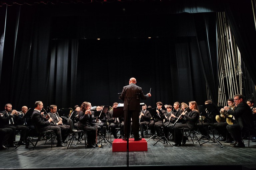
[[46, 118], [41, 114], [41, 110], [43, 109], [43, 102], [41, 101], [36, 101], [35, 103], [35, 109], [34, 112], [32, 113], [31, 119], [33, 123], [35, 124], [35, 128], [38, 130], [38, 132], [43, 132], [47, 130], [53, 130], [57, 136], [57, 147], [62, 147], [66, 146], [66, 143], [62, 142], [62, 137], [61, 137], [61, 129], [60, 127], [57, 126], [51, 126], [51, 122], [53, 121], [52, 118], [48, 118], [48, 115]]

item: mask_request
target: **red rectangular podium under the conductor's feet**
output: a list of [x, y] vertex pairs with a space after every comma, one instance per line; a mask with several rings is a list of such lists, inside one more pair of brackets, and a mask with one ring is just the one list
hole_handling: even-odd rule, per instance
[[[114, 139], [112, 142], [112, 152], [126, 152], [127, 141], [122, 139]], [[134, 141], [134, 138], [129, 138], [129, 152], [133, 151], [148, 151], [148, 143], [142, 138], [142, 140]]]

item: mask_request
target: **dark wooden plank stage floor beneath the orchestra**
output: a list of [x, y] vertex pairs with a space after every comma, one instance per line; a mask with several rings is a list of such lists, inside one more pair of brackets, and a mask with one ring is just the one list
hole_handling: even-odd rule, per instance
[[[201, 135], [198, 135], [199, 137]], [[212, 136], [212, 135], [211, 135]], [[146, 137], [146, 136], [145, 136]], [[146, 137], [148, 140], [150, 137]], [[112, 138], [113, 140], [113, 138]], [[244, 140], [245, 148], [234, 148], [229, 143], [187, 142], [184, 146], [156, 143], [150, 139], [148, 151], [112, 152], [112, 145], [102, 143], [103, 148], [85, 148], [84, 143], [67, 147], [51, 148], [39, 141], [33, 150], [24, 145], [9, 150], [0, 150], [0, 169], [118, 169], [122, 167], [178, 168], [180, 169], [256, 169], [256, 142]], [[205, 140], [201, 140], [203, 143]], [[35, 141], [33, 141], [35, 143]], [[170, 141], [172, 144], [173, 142]], [[155, 144], [155, 145], [154, 145]], [[128, 155], [128, 156], [127, 156]], [[128, 165], [127, 165], [128, 164]]]

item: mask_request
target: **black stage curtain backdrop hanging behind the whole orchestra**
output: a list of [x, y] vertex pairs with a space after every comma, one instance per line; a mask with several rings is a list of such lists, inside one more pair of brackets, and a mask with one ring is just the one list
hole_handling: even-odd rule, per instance
[[151, 88], [142, 102], [152, 107], [203, 104], [206, 85], [217, 103], [215, 12], [107, 18], [76, 9], [69, 15], [51, 5], [6, 7], [1, 106], [33, 107], [39, 100], [59, 109], [83, 101], [112, 106], [122, 103], [117, 93], [131, 77], [145, 94]]

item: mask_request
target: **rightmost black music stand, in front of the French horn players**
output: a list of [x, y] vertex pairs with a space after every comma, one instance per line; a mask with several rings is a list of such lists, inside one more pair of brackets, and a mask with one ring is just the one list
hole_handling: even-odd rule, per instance
[[[213, 143], [218, 143], [220, 145], [220, 147], [222, 148], [222, 146], [221, 146], [222, 144], [215, 138], [214, 128], [213, 128], [213, 118], [215, 118], [216, 115], [219, 115], [220, 111], [218, 110], [218, 107], [214, 104], [206, 104], [206, 105], [204, 105], [204, 108], [205, 108], [205, 110], [207, 110], [209, 112], [209, 115], [212, 118], [211, 131], [212, 131], [212, 134], [213, 134], [213, 137], [211, 139], [207, 140], [206, 142], [213, 141]], [[204, 142], [204, 143], [206, 143], [206, 142]], [[202, 144], [204, 144], [204, 143], [202, 143]]]

